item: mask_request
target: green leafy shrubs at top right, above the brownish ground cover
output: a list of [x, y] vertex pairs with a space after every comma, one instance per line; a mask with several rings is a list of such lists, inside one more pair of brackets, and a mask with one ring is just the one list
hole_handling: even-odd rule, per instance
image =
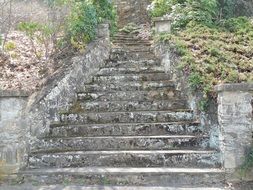
[[239, 7], [236, 0], [153, 0], [149, 11], [151, 17], [170, 15], [174, 18], [172, 29], [177, 31], [192, 21], [213, 27], [226, 19], [245, 15], [237, 12]]

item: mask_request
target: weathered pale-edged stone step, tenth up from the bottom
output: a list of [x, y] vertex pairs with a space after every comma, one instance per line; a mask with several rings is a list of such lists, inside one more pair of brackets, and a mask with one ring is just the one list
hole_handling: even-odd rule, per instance
[[144, 73], [164, 73], [164, 67], [106, 67], [98, 71], [97, 75], [113, 74], [144, 74]]

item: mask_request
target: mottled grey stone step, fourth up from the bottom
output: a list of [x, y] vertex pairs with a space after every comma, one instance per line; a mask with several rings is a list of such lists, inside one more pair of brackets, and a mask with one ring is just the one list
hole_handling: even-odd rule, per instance
[[148, 136], [152, 135], [200, 135], [203, 127], [198, 122], [88, 124], [50, 126], [51, 137], [77, 136]]

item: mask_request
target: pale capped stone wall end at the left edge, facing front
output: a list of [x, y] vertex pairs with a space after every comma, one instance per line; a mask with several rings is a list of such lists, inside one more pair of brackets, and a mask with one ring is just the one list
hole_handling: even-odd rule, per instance
[[4, 172], [13, 172], [23, 165], [27, 132], [24, 109], [28, 92], [0, 91], [0, 161]]

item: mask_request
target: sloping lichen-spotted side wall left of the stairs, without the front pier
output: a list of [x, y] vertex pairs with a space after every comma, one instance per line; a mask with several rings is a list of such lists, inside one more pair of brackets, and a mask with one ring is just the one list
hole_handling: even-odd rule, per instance
[[47, 85], [29, 99], [27, 113], [32, 137], [44, 136], [50, 123], [59, 121], [59, 113], [67, 111], [76, 100], [76, 93], [109, 58], [109, 25], [101, 24], [97, 36], [84, 55], [74, 57], [70, 65], [55, 73]]

